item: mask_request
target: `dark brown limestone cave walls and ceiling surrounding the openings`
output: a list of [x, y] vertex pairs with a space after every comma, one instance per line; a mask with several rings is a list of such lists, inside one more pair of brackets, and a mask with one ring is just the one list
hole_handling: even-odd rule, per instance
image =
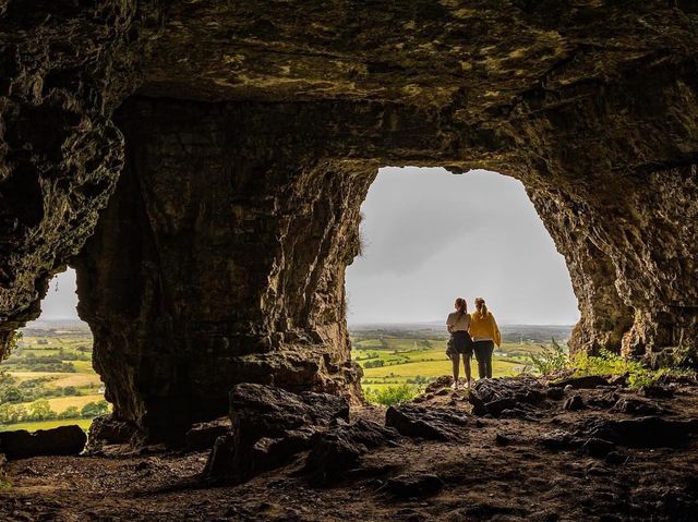
[[74, 266], [115, 417], [149, 440], [241, 383], [361, 402], [344, 274], [386, 166], [521, 181], [569, 268], [573, 350], [697, 348], [694, 2], [9, 0], [0, 20], [0, 347]]

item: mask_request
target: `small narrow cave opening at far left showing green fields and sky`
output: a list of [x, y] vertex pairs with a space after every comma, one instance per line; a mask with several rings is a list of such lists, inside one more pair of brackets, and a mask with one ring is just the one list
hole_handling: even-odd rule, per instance
[[89, 327], [77, 316], [75, 271], [53, 276], [38, 319], [15, 332], [0, 364], [0, 432], [47, 429], [92, 420], [109, 410], [92, 363]]

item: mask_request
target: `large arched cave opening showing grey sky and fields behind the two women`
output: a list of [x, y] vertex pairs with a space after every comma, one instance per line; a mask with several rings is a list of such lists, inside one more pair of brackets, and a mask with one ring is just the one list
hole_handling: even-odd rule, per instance
[[[450, 373], [446, 315], [484, 296], [503, 332], [494, 375], [515, 375], [579, 319], [564, 257], [520, 181], [484, 170], [385, 168], [362, 207], [362, 255], [346, 274], [352, 359], [369, 399]], [[476, 369], [477, 374], [477, 369]]]

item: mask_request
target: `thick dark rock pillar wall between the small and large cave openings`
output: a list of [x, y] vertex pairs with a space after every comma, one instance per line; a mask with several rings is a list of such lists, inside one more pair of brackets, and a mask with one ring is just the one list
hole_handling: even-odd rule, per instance
[[127, 165], [73, 264], [107, 398], [154, 439], [222, 414], [240, 381], [360, 393], [344, 267], [376, 169], [302, 155], [293, 111], [256, 109], [117, 116]]

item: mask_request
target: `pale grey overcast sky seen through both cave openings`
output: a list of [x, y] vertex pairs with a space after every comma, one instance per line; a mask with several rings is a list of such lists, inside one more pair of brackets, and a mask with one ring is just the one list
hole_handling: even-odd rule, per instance
[[[364, 252], [347, 268], [350, 324], [444, 320], [485, 298], [500, 323], [571, 325], [562, 255], [524, 185], [483, 170], [381, 169], [361, 207]], [[75, 272], [51, 281], [40, 319], [77, 319]]]

